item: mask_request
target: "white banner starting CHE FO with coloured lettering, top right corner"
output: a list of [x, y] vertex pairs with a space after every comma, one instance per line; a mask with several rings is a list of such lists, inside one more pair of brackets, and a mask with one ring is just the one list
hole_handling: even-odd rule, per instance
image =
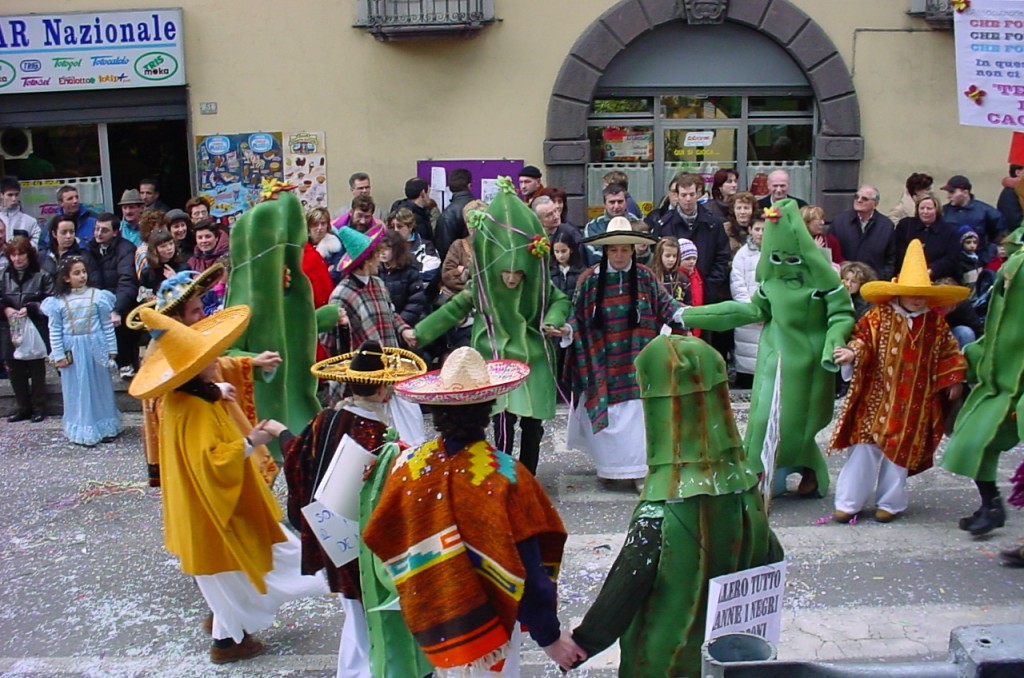
[[952, 4], [961, 124], [1024, 129], [1024, 0]]

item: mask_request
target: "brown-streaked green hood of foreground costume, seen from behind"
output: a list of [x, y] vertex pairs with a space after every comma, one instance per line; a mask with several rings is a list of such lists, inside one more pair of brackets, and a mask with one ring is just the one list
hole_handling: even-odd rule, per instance
[[732, 417], [725, 361], [718, 351], [695, 337], [662, 335], [634, 364], [647, 431], [642, 499], [728, 495], [758, 483]]

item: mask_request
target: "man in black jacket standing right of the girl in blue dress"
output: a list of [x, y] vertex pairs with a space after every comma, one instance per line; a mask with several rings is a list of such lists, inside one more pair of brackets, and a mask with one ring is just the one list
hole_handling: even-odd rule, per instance
[[121, 237], [118, 220], [110, 212], [96, 217], [92, 240], [85, 247], [89, 286], [114, 294], [111, 313], [118, 340], [118, 367], [121, 377], [131, 379], [138, 367], [139, 333], [129, 330], [121, 319], [137, 304], [138, 277], [135, 274], [135, 246]]

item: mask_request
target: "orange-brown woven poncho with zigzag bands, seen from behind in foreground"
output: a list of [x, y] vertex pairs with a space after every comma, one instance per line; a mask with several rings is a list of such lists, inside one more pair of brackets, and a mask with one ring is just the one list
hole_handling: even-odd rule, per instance
[[526, 590], [517, 544], [537, 538], [557, 576], [565, 528], [544, 489], [479, 440], [431, 440], [398, 457], [362, 541], [394, 581], [406, 624], [440, 669], [505, 659]]

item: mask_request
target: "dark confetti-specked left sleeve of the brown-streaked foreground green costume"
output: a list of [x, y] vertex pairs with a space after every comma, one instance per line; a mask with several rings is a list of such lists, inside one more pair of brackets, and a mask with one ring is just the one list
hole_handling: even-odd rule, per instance
[[609, 647], [626, 633], [654, 586], [662, 552], [663, 518], [638, 517], [604, 580], [601, 592], [572, 639], [588, 656]]

